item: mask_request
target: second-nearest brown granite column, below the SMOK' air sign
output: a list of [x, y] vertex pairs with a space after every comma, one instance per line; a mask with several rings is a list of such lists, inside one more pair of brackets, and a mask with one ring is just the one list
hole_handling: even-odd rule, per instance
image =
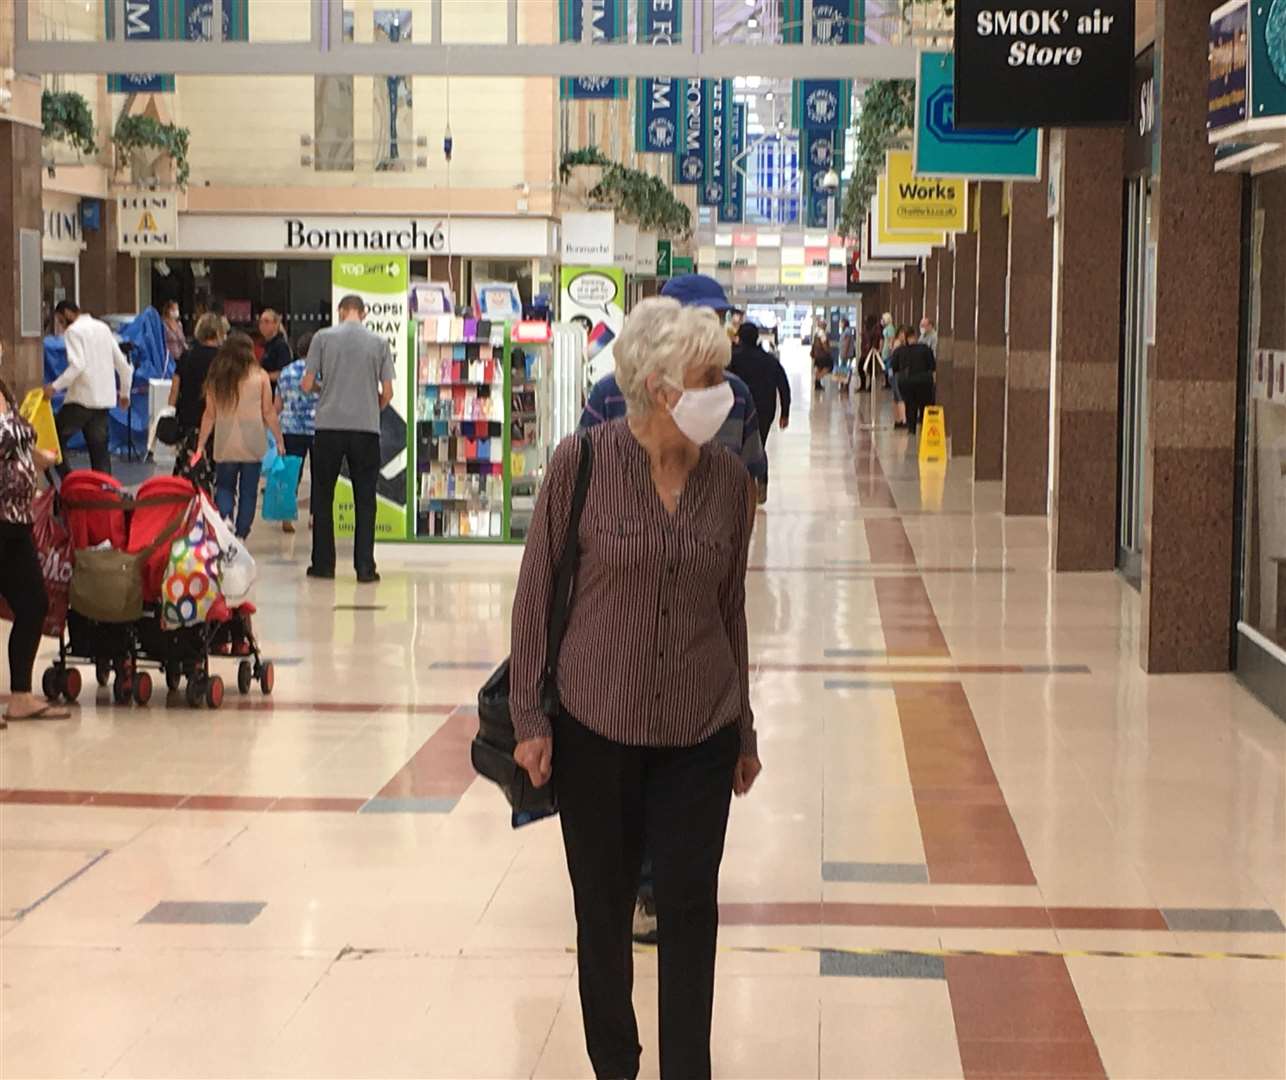
[[1055, 225], [1061, 258], [1053, 316], [1053, 568], [1112, 570], [1125, 135], [1078, 129], [1051, 138], [1064, 140]]

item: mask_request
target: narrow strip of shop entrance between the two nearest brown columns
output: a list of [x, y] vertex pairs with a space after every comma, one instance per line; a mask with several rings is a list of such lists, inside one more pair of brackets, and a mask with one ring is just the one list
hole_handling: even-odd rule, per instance
[[1116, 567], [1136, 589], [1143, 581], [1143, 500], [1147, 495], [1147, 351], [1156, 341], [1155, 201], [1150, 176], [1127, 181]]

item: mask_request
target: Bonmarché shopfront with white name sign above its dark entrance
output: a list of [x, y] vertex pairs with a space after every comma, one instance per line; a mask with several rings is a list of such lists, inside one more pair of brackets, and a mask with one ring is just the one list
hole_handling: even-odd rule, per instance
[[271, 307], [297, 339], [329, 325], [331, 258], [408, 255], [412, 278], [451, 282], [467, 302], [475, 282], [512, 282], [525, 303], [553, 280], [557, 226], [548, 217], [180, 213], [172, 252], [139, 260], [143, 303], [175, 300], [189, 323], [221, 310], [252, 329]]

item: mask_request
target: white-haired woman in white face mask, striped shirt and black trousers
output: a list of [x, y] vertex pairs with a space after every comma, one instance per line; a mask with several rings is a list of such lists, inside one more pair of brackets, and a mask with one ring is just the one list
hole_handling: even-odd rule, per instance
[[[760, 771], [746, 644], [755, 485], [711, 442], [732, 408], [729, 355], [712, 312], [666, 298], [635, 307], [615, 347], [629, 415], [589, 432], [593, 472], [572, 537], [577, 437], [554, 451], [513, 602], [514, 756], [558, 796], [599, 1077], [639, 1068], [630, 930], [644, 842], [661, 941], [661, 1075], [710, 1076], [728, 809]], [[559, 708], [547, 716], [545, 618], [565, 543], [579, 544], [580, 563]]]

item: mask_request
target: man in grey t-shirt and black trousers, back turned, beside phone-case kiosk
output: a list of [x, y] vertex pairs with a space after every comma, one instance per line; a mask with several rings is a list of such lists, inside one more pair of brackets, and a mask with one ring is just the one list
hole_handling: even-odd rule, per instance
[[334, 487], [345, 463], [352, 482], [352, 564], [358, 581], [376, 572], [376, 487], [379, 482], [379, 413], [394, 400], [388, 342], [363, 325], [360, 296], [340, 301], [340, 323], [312, 337], [300, 383], [319, 392], [312, 444], [312, 564], [309, 577], [334, 577]]

